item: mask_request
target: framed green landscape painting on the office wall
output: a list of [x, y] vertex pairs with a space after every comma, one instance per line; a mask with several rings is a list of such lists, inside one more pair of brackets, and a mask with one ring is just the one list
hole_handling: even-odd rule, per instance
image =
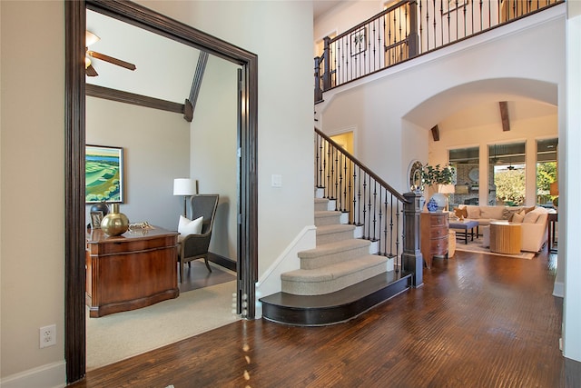
[[84, 202], [123, 203], [123, 148], [86, 145]]

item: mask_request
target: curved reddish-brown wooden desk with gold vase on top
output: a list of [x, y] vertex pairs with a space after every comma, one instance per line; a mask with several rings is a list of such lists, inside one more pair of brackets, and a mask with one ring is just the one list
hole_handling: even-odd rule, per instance
[[113, 237], [101, 229], [89, 231], [85, 257], [89, 316], [176, 298], [177, 235], [158, 227]]

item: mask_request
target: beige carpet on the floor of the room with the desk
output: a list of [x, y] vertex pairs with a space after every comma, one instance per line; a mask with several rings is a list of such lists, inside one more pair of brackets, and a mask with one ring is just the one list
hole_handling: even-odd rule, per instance
[[87, 370], [237, 321], [235, 295], [236, 281], [233, 281], [100, 318], [88, 318], [87, 308]]

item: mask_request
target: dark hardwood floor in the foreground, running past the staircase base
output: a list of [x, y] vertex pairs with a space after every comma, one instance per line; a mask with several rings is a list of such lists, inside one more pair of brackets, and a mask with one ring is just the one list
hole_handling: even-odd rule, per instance
[[556, 257], [457, 251], [348, 323], [239, 321], [87, 373], [73, 387], [579, 387], [559, 351]]

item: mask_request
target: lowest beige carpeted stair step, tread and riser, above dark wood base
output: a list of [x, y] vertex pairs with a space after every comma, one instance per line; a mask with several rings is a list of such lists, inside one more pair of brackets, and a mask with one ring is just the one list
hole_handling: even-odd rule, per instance
[[295, 295], [334, 293], [388, 271], [388, 258], [367, 254], [347, 262], [313, 270], [299, 269], [281, 274], [282, 292]]

